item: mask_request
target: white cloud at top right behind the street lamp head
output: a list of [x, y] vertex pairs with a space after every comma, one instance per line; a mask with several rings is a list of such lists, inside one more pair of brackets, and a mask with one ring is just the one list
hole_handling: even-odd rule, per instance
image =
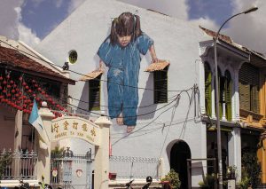
[[232, 1], [234, 13], [246, 11], [253, 5], [258, 6], [256, 12], [242, 14], [230, 21], [230, 27], [225, 30], [231, 35], [234, 42], [253, 49], [254, 51], [266, 52], [266, 2], [265, 0], [234, 0]]

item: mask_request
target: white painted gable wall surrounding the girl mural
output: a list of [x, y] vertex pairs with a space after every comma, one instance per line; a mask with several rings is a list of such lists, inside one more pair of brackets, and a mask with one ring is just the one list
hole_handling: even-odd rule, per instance
[[[171, 63], [168, 70], [168, 90], [175, 92], [168, 92], [168, 97], [176, 95], [179, 93], [178, 91], [192, 88], [194, 83], [199, 85], [199, 66], [197, 66], [197, 59], [200, 59], [199, 42], [204, 41], [206, 37], [197, 25], [113, 0], [86, 1], [59, 24], [58, 28], [55, 28], [50, 35], [46, 36], [36, 47], [36, 50], [59, 66], [63, 66], [68, 57], [68, 51], [75, 50], [78, 53], [78, 60], [70, 66], [70, 70], [83, 75], [87, 74], [98, 67], [96, 53], [99, 45], [109, 34], [112, 18], [119, 16], [121, 12], [136, 12], [136, 10], [141, 18], [142, 30], [150, 35], [155, 42], [158, 58], [168, 59]], [[138, 86], [141, 88], [153, 89], [153, 74], [144, 72], [145, 67], [150, 62], [151, 58], [147, 54], [143, 58], [140, 67]], [[71, 73], [71, 78], [74, 80], [78, 80], [81, 76]], [[106, 74], [102, 76], [102, 79], [106, 80]], [[107, 106], [105, 82], [102, 83], [102, 89], [102, 105]], [[153, 91], [139, 90], [138, 92], [139, 106], [153, 104]], [[192, 95], [192, 91], [188, 93]], [[77, 82], [74, 86], [69, 86], [69, 95], [73, 98], [88, 101], [88, 83]], [[113, 146], [113, 155], [162, 157], [165, 161], [165, 171], [168, 172], [169, 162], [166, 147], [171, 141], [182, 139], [190, 146], [192, 158], [205, 158], [206, 128], [201, 122], [194, 122], [191, 119], [194, 116], [193, 102], [187, 116], [189, 121], [184, 124], [189, 103], [188, 95], [183, 92], [173, 117], [173, 123], [179, 122], [179, 124], [173, 124], [169, 130], [166, 127], [164, 130], [160, 129], [149, 133], [149, 130], [162, 127], [163, 123], [168, 125], [171, 121], [172, 109], [161, 114], [167, 110], [168, 106], [161, 108], [166, 104], [155, 105], [142, 111], [139, 110], [138, 114], [144, 114], [161, 108], [154, 114], [143, 116], [137, 120], [138, 124], [135, 130], [145, 127], [159, 116], [156, 121], [143, 129], [146, 131], [138, 131], [127, 138], [123, 138], [126, 136], [125, 127], [117, 126], [115, 120], [113, 120], [113, 126], [111, 126], [112, 142], [123, 138]], [[73, 104], [82, 108], [88, 107], [88, 105], [79, 104], [75, 100], [73, 100]], [[76, 112], [85, 114], [80, 110], [76, 110]], [[102, 109], [102, 112], [107, 114], [105, 108]], [[140, 134], [143, 135], [136, 137]], [[79, 146], [74, 150], [81, 151], [82, 145]], [[193, 185], [198, 185], [198, 180], [193, 181]]]

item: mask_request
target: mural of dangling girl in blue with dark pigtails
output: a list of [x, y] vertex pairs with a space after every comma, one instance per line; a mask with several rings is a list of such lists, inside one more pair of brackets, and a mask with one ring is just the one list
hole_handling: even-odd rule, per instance
[[127, 132], [134, 130], [137, 122], [138, 74], [141, 55], [150, 51], [157, 62], [153, 39], [140, 28], [139, 16], [123, 12], [112, 21], [111, 34], [98, 49], [99, 68], [109, 67], [107, 73], [108, 112], [117, 118], [119, 125], [126, 125]]

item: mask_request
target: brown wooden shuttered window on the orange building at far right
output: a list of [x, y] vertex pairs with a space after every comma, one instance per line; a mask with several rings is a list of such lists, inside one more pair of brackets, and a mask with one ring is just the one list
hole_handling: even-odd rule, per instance
[[240, 108], [259, 113], [259, 70], [244, 63], [239, 70]]

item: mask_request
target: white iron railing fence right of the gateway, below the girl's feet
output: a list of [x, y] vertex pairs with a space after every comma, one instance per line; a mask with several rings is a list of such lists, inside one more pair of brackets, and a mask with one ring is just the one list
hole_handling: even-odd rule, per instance
[[116, 178], [145, 178], [152, 176], [159, 178], [158, 158], [111, 156], [110, 173], [116, 174]]

